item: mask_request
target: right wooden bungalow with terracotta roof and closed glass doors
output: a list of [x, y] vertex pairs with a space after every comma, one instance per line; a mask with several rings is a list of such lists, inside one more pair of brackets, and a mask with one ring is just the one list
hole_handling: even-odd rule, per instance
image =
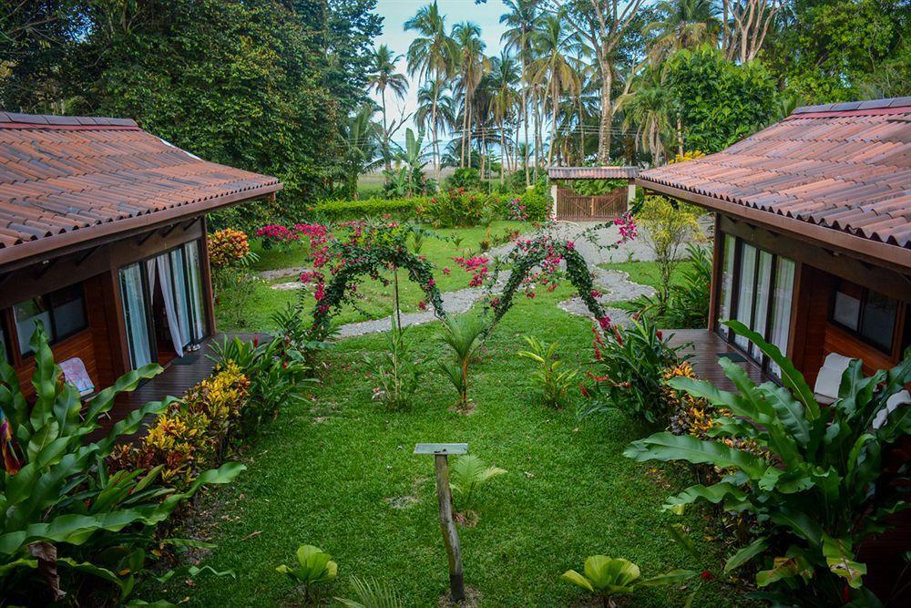
[[636, 182], [714, 213], [709, 326], [678, 337], [696, 345], [701, 376], [719, 379], [729, 353], [777, 376], [725, 319], [778, 345], [822, 401], [846, 357], [869, 374], [911, 345], [911, 98], [799, 108]]

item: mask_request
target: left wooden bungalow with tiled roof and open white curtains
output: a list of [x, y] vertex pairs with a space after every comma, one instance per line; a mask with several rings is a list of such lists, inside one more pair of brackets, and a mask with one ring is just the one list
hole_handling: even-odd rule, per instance
[[192, 354], [215, 333], [206, 213], [280, 189], [132, 120], [0, 112], [0, 341], [25, 389], [39, 321], [87, 394]]

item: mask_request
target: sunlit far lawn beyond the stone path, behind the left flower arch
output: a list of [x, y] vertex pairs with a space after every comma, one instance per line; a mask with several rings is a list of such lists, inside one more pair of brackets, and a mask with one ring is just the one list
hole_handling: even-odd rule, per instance
[[[530, 230], [530, 224], [523, 222], [494, 222], [490, 227], [490, 235], [499, 235], [507, 230]], [[484, 228], [457, 228], [441, 229], [438, 231], [441, 237], [451, 237], [455, 235], [461, 238], [459, 249], [455, 251], [453, 242], [444, 241], [427, 237], [424, 240], [421, 254], [426, 255], [427, 259], [435, 263], [438, 272], [436, 273], [436, 283], [440, 291], [454, 291], [468, 286], [470, 275], [455, 265], [453, 256], [466, 255], [470, 252], [479, 252], [479, 242], [489, 238]], [[275, 268], [292, 268], [298, 266], [307, 266], [309, 258], [307, 257], [307, 247], [298, 245], [289, 249], [279, 250], [272, 248], [263, 251], [258, 242], [253, 244], [253, 251], [256, 252], [260, 259], [254, 264], [255, 271], [271, 270]], [[448, 267], [451, 271], [449, 275], [443, 273], [443, 268]], [[391, 277], [391, 273], [387, 274]], [[271, 283], [287, 283], [294, 281], [295, 277], [276, 279], [271, 282], [258, 281], [251, 285], [251, 300], [244, 305], [243, 314], [231, 315], [225, 314], [224, 308], [216, 310], [217, 322], [221, 331], [261, 331], [274, 328], [271, 316], [276, 312], [284, 309], [297, 298], [297, 292], [294, 290], [281, 291], [271, 288]], [[402, 277], [400, 283], [400, 300], [404, 312], [413, 312], [417, 310], [417, 304], [424, 299], [424, 293], [415, 284]], [[360, 285], [360, 291], [363, 294], [363, 300], [357, 303], [357, 308], [346, 306], [337, 317], [339, 323], [354, 323], [366, 319], [380, 318], [388, 316], [393, 312], [393, 287], [385, 286], [378, 281], [371, 281], [365, 277], [364, 282]], [[312, 297], [308, 298], [310, 303], [315, 302]], [[360, 310], [358, 310], [360, 309]]]

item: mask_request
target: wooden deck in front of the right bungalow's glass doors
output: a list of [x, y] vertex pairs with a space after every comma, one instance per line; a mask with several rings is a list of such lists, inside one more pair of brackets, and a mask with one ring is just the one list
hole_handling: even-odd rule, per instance
[[724, 376], [722, 366], [718, 365], [718, 359], [722, 356], [737, 361], [737, 365], [745, 369], [750, 379], [757, 384], [772, 379], [764, 374], [759, 366], [725, 342], [720, 335], [708, 329], [662, 329], [661, 332], [667, 337], [670, 345], [687, 345], [681, 354], [690, 356], [690, 365], [696, 375], [722, 390], [736, 391], [731, 380]]

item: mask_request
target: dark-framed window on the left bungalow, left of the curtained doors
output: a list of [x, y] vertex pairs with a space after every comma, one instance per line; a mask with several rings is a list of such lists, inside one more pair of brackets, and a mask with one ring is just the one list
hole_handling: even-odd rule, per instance
[[32, 352], [29, 341], [39, 322], [51, 343], [66, 339], [88, 326], [85, 293], [79, 283], [15, 304], [13, 316], [22, 355]]

